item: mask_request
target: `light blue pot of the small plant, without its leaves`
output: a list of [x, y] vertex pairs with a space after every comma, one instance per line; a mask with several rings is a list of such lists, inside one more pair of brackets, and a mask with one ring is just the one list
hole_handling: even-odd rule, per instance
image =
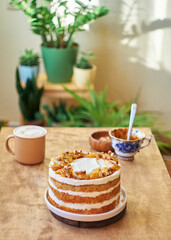
[[21, 80], [26, 83], [28, 79], [33, 77], [36, 79], [39, 74], [39, 66], [19, 66], [19, 74]]

